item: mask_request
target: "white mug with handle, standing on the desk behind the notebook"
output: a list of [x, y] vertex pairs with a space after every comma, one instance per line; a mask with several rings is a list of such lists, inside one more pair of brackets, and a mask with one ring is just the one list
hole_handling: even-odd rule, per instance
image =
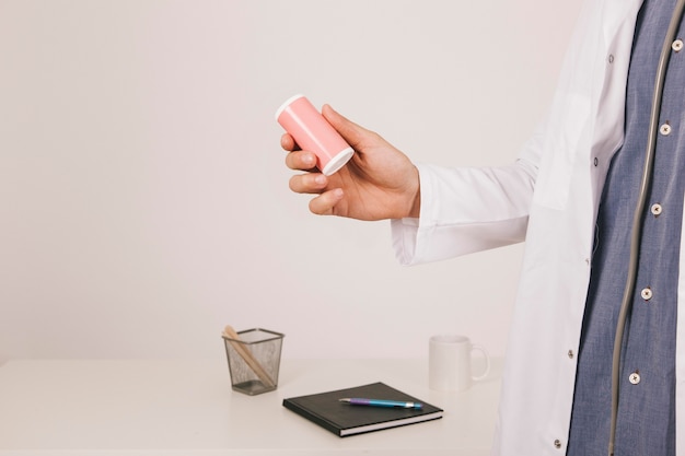
[[[472, 354], [479, 351], [485, 359], [485, 370], [479, 375], [472, 374]], [[485, 378], [490, 372], [490, 356], [480, 346], [471, 343], [465, 336], [439, 335], [429, 340], [428, 383], [431, 389], [440, 391], [463, 391], [474, 381]]]

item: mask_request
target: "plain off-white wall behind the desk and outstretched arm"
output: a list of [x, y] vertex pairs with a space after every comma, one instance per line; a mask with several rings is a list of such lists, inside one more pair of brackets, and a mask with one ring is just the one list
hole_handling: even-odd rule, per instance
[[512, 161], [578, 2], [0, 0], [0, 359], [506, 349], [522, 246], [405, 268], [288, 190], [274, 110], [330, 103], [417, 162]]

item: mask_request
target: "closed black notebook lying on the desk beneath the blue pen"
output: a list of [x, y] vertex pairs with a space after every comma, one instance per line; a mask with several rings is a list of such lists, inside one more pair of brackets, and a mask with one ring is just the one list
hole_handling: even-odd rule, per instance
[[[363, 397], [420, 402], [421, 409], [351, 406], [338, 399]], [[283, 407], [336, 435], [361, 434], [442, 418], [443, 410], [392, 388], [384, 383], [283, 399]]]

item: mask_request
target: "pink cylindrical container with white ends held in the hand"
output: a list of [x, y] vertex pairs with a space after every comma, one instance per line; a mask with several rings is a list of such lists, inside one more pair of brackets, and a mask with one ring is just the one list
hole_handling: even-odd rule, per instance
[[316, 154], [316, 167], [326, 176], [340, 169], [355, 150], [304, 95], [294, 95], [276, 112], [276, 120], [302, 150]]

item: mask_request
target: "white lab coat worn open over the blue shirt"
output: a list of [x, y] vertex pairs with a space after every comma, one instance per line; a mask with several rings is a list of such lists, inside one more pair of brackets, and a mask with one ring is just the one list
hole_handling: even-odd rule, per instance
[[[407, 265], [526, 242], [496, 455], [566, 453], [595, 219], [609, 160], [624, 139], [626, 80], [640, 5], [641, 0], [587, 1], [547, 120], [516, 163], [420, 166], [420, 218], [392, 221], [398, 259]], [[680, 271], [682, 308], [682, 258]], [[677, 323], [676, 347], [677, 454], [685, 454], [683, 321]]]

